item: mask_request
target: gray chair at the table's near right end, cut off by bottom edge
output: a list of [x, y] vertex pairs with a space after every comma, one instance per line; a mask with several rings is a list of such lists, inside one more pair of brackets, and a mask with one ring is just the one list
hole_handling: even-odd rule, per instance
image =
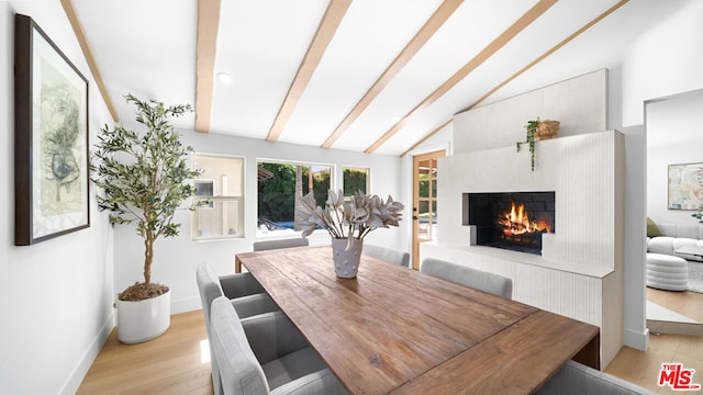
[[568, 361], [537, 395], [635, 395], [654, 392], [574, 361]]

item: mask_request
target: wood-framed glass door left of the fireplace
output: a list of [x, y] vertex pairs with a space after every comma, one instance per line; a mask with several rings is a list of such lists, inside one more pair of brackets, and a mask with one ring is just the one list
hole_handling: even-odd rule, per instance
[[437, 158], [445, 151], [413, 157], [413, 269], [420, 269], [420, 244], [436, 239]]

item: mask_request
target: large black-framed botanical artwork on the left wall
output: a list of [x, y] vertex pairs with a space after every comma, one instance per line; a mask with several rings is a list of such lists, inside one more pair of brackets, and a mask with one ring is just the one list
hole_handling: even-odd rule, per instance
[[14, 16], [14, 244], [90, 226], [88, 80], [40, 26]]

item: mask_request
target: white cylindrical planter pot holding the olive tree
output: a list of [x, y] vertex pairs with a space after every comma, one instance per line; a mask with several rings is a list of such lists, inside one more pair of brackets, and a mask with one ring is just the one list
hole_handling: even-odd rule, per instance
[[118, 300], [118, 339], [137, 343], [161, 336], [171, 324], [171, 292], [140, 302]]

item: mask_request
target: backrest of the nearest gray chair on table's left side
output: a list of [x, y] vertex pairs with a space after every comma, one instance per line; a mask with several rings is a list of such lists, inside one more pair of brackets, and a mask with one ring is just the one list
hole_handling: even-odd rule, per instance
[[269, 393], [264, 370], [249, 346], [244, 327], [230, 301], [220, 296], [212, 303], [212, 337], [223, 394]]

